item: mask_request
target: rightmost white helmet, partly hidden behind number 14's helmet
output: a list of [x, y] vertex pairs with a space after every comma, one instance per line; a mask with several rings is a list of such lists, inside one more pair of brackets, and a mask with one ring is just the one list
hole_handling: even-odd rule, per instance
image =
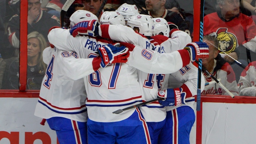
[[164, 36], [169, 37], [170, 28], [168, 22], [164, 18], [153, 18], [153, 20], [155, 23], [153, 34], [158, 35], [159, 33], [163, 33]]

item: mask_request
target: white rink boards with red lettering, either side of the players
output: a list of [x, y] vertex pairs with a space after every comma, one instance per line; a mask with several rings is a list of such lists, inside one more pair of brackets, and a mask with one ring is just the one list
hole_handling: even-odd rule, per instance
[[[192, 127], [191, 144], [254, 144], [255, 100], [203, 96], [202, 109]], [[40, 125], [42, 119], [34, 116], [37, 101], [38, 98], [0, 98], [0, 144], [57, 144], [55, 131], [47, 123]]]

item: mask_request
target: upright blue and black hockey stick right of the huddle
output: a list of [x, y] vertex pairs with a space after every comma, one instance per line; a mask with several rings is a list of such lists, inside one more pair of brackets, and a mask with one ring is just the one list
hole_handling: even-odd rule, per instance
[[[200, 1], [200, 35], [199, 41], [203, 42], [204, 30], [204, 0]], [[201, 110], [201, 72], [202, 72], [202, 59], [198, 59], [198, 73], [197, 73], [197, 111]]]

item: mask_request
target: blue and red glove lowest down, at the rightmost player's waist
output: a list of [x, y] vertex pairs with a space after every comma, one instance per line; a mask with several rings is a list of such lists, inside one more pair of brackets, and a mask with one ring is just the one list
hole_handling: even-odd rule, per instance
[[158, 97], [164, 98], [164, 100], [159, 100], [159, 104], [163, 106], [180, 106], [181, 104], [186, 104], [186, 93], [182, 92], [182, 88], [161, 90], [158, 92]]

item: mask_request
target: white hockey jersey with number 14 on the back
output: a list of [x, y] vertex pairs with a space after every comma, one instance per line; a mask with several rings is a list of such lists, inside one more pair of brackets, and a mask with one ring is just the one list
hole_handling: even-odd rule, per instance
[[[148, 39], [138, 33], [135, 33], [133, 29], [129, 27], [121, 25], [102, 25], [100, 28], [100, 31], [102, 31], [101, 35], [105, 38], [133, 43], [135, 45], [140, 45], [144, 48], [154, 50], [159, 53], [171, 53], [176, 50], [182, 50], [187, 45], [187, 43], [191, 42], [190, 35], [188, 35], [187, 33], [183, 31], [173, 31], [173, 33], [171, 34], [172, 38], [168, 38], [163, 35], [156, 35], [151, 37], [153, 38], [153, 40], [150, 40], [150, 42], [152, 43], [152, 45], [154, 45], [152, 47], [153, 49], [151, 49], [147, 45], [149, 43]], [[159, 43], [158, 41], [161, 43]], [[159, 63], [162, 63], [162, 61]], [[173, 62], [169, 62], [163, 67], [171, 67], [172, 63]], [[127, 64], [130, 63], [127, 62]], [[158, 90], [167, 89], [169, 74], [159, 74], [164, 72], [161, 71], [161, 68], [156, 70], [158, 74], [137, 71], [138, 81], [141, 85], [142, 101], [156, 99]], [[164, 106], [159, 104], [159, 102], [153, 102], [141, 106], [140, 110], [142, 111], [142, 114], [147, 122], [159, 122], [166, 118], [166, 109]]]

